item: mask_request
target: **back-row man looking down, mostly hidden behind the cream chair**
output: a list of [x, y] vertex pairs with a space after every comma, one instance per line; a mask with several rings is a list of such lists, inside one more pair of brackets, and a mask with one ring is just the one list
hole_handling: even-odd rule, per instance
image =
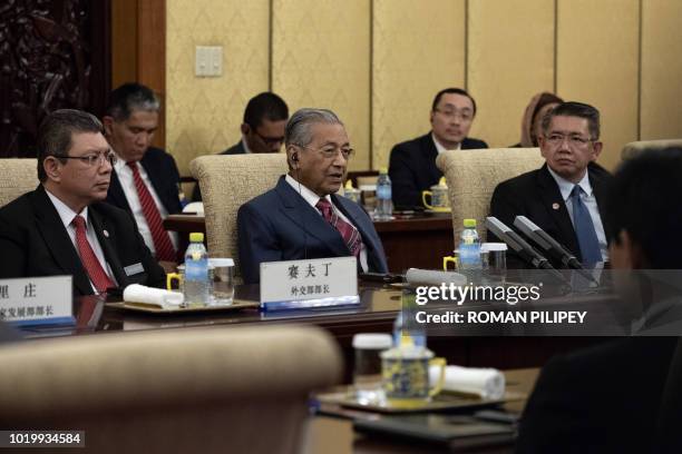
[[[284, 144], [284, 126], [288, 119], [289, 108], [282, 98], [270, 91], [254, 96], [244, 110], [242, 139], [221, 155], [280, 152]], [[194, 186], [192, 200], [202, 200], [198, 184]]]

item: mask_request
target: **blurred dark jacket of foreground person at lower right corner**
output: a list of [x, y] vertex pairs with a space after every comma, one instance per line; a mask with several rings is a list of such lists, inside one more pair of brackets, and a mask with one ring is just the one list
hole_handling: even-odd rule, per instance
[[518, 453], [649, 453], [678, 337], [627, 337], [551, 359]]

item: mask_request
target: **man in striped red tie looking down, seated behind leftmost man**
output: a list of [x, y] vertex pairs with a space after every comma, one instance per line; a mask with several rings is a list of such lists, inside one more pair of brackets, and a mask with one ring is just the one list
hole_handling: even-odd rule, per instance
[[178, 239], [163, 220], [182, 211], [179, 172], [173, 156], [152, 147], [160, 103], [139, 83], [125, 83], [109, 97], [105, 134], [118, 157], [107, 201], [130, 213], [149, 250], [160, 261], [177, 259]]

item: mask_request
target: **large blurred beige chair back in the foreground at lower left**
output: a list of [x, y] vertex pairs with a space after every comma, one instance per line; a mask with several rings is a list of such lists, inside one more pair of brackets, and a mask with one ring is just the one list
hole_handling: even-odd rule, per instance
[[85, 431], [96, 453], [296, 453], [309, 393], [342, 374], [312, 326], [31, 340], [0, 364], [0, 426]]

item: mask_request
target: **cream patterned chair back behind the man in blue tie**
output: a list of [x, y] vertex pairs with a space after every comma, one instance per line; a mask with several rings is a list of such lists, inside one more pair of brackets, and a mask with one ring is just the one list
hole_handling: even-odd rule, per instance
[[436, 165], [445, 174], [452, 209], [455, 245], [464, 219], [476, 219], [481, 239], [495, 187], [509, 178], [539, 168], [545, 159], [538, 148], [493, 148], [442, 152]]

